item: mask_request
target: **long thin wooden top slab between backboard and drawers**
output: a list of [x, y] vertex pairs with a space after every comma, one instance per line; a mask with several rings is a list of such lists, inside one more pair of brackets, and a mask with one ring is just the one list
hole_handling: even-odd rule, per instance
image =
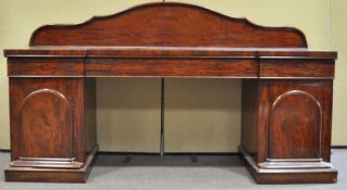
[[5, 56], [76, 58], [282, 58], [336, 59], [336, 52], [300, 48], [203, 48], [203, 47], [32, 47], [4, 50]]

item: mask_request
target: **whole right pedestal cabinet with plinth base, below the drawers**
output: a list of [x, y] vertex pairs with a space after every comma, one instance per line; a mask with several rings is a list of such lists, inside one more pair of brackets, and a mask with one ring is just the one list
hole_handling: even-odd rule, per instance
[[336, 182], [331, 103], [331, 79], [244, 80], [240, 150], [257, 182]]

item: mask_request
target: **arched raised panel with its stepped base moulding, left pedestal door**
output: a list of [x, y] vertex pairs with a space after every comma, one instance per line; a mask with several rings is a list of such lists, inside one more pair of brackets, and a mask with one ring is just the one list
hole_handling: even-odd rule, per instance
[[[51, 94], [52, 97], [49, 97], [48, 99], [50, 100], [50, 102], [54, 105], [53, 111], [57, 112], [57, 114], [59, 115], [54, 115], [54, 118], [57, 119], [62, 119], [66, 122], [66, 125], [61, 125], [61, 123], [59, 123], [59, 125], [54, 125], [52, 126], [50, 124], [50, 117], [49, 115], [47, 115], [50, 112], [45, 112], [45, 109], [47, 109], [46, 106], [49, 107], [49, 102], [45, 101], [40, 102], [41, 100], [38, 100], [36, 98], [42, 96], [42, 94]], [[42, 98], [42, 97], [40, 97]], [[57, 100], [54, 100], [54, 98], [57, 98]], [[36, 111], [33, 110], [27, 110], [26, 107], [28, 106], [28, 104], [35, 104], [35, 103], [39, 103], [38, 106], [29, 106], [29, 107], [35, 107], [35, 109], [39, 109]], [[39, 90], [35, 90], [33, 92], [30, 92], [27, 97], [25, 97], [25, 99], [22, 102], [22, 106], [21, 106], [21, 117], [20, 117], [20, 127], [23, 130], [22, 134], [22, 138], [18, 139], [20, 143], [22, 144], [22, 153], [24, 154], [28, 154], [28, 155], [23, 155], [20, 156], [17, 161], [13, 161], [11, 163], [11, 166], [22, 166], [22, 167], [57, 167], [57, 168], [79, 168], [83, 166], [82, 163], [79, 162], [75, 162], [75, 142], [74, 142], [74, 130], [73, 130], [73, 112], [72, 112], [72, 105], [69, 102], [69, 100], [66, 99], [66, 97], [64, 94], [62, 94], [61, 92], [53, 90], [53, 89], [39, 89]], [[25, 112], [26, 111], [26, 112]], [[38, 114], [38, 116], [41, 118], [41, 121], [44, 122], [42, 125], [38, 125], [37, 121], [35, 123], [33, 123], [33, 121], [28, 121], [29, 123], [26, 124], [25, 118], [26, 118], [26, 114]], [[64, 116], [64, 117], [62, 117]], [[67, 116], [67, 117], [65, 117]], [[59, 121], [55, 121], [57, 124]], [[30, 127], [28, 127], [30, 126]], [[33, 128], [34, 127], [34, 128]], [[40, 127], [40, 128], [35, 128], [35, 127]], [[46, 128], [48, 127], [48, 128]], [[61, 129], [60, 127], [66, 127], [66, 129]], [[29, 134], [25, 134], [25, 129], [28, 129]], [[52, 137], [46, 137], [49, 139], [45, 139], [45, 137], [33, 137], [30, 132], [36, 132], [36, 134], [40, 134], [42, 130], [47, 130], [50, 135], [52, 135]], [[57, 130], [57, 131], [55, 131]], [[63, 134], [60, 134], [61, 130], [67, 130]], [[57, 134], [58, 132], [58, 134]], [[65, 139], [62, 140], [65, 137], [60, 137], [60, 136], [64, 136], [69, 135], [71, 136], [70, 141], [66, 142]], [[29, 135], [29, 137], [26, 137], [25, 135]], [[30, 140], [28, 140], [28, 138]], [[55, 143], [48, 143], [46, 142], [46, 144], [54, 144], [54, 147], [47, 147], [46, 150], [41, 150], [42, 152], [40, 152], [40, 155], [45, 155], [47, 154], [48, 156], [35, 156], [35, 154], [37, 153], [30, 153], [29, 147], [30, 145], [35, 145], [35, 143], [40, 143], [42, 145], [42, 143], [45, 143], [44, 141], [39, 141], [39, 140], [51, 140], [51, 141], [59, 141], [59, 139], [61, 140], [61, 143], [67, 143], [64, 144], [63, 147], [60, 147], [58, 144], [58, 148], [55, 148]], [[24, 142], [26, 142], [26, 144], [24, 144]], [[33, 144], [27, 144], [28, 142], [33, 142]], [[28, 147], [27, 147], [28, 145]], [[52, 150], [50, 150], [52, 149]], [[71, 149], [70, 151], [70, 155], [64, 155], [64, 156], [60, 156], [60, 155], [53, 155], [52, 153], [57, 153], [57, 149]], [[27, 152], [29, 151], [29, 152]], [[52, 152], [53, 151], [53, 152]], [[46, 152], [46, 153], [45, 153]], [[62, 152], [65, 152], [62, 151]], [[58, 153], [59, 154], [59, 153]], [[33, 156], [34, 155], [34, 156]]]

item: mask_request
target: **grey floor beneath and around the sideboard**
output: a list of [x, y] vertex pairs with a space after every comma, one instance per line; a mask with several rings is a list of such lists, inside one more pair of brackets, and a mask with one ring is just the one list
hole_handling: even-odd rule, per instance
[[[0, 190], [103, 190], [103, 189], [310, 189], [347, 190], [347, 150], [332, 150], [332, 164], [338, 181], [332, 185], [257, 185], [237, 156], [133, 156], [128, 163], [121, 155], [100, 155], [87, 183], [5, 182], [0, 173]], [[0, 153], [0, 168], [10, 161]]]

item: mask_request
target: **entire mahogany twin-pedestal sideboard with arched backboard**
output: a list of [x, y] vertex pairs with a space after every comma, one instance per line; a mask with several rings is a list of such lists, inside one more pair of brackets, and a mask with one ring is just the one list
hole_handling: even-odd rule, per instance
[[160, 2], [46, 25], [29, 46], [4, 50], [8, 181], [86, 181], [97, 151], [98, 77], [243, 78], [239, 151], [256, 181], [337, 179], [330, 163], [337, 53], [309, 51], [299, 29]]

